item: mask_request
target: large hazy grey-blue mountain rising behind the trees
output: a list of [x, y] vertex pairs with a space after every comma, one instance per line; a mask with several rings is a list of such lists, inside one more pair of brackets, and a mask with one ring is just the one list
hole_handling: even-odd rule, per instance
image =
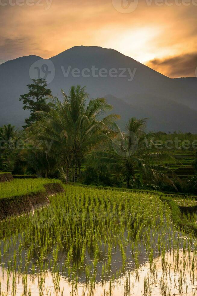
[[84, 46], [49, 60], [31, 55], [1, 64], [0, 126], [23, 124], [28, 111], [18, 99], [39, 71], [53, 95], [60, 96], [61, 88], [68, 92], [74, 84], [86, 85], [94, 98], [109, 94], [123, 125], [131, 116], [149, 117], [149, 129], [197, 133], [196, 78], [170, 79], [116, 50]]

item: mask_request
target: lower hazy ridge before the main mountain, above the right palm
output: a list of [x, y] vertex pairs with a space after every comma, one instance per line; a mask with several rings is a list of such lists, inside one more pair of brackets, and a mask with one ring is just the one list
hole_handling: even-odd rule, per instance
[[[122, 129], [125, 128], [125, 121], [131, 116], [137, 118], [149, 118], [147, 129], [152, 131], [175, 130], [196, 133], [195, 118], [197, 111], [177, 102], [148, 95], [136, 95], [135, 98], [116, 98], [112, 95], [105, 96], [107, 101], [114, 106], [114, 112], [121, 115], [117, 122]], [[145, 98], [145, 101], [144, 101]], [[181, 117], [180, 117], [181, 116]]]

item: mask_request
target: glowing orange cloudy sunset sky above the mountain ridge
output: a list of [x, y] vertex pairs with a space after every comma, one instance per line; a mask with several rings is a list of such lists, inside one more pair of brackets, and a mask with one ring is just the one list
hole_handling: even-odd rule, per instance
[[174, 77], [197, 67], [197, 0], [0, 0], [0, 63], [113, 48]]

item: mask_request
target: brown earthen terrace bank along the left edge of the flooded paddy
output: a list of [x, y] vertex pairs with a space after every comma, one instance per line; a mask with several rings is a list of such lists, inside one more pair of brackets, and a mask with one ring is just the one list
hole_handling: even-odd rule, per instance
[[64, 192], [60, 183], [45, 184], [44, 187], [43, 191], [0, 199], [0, 221], [42, 208], [50, 204], [48, 196]]

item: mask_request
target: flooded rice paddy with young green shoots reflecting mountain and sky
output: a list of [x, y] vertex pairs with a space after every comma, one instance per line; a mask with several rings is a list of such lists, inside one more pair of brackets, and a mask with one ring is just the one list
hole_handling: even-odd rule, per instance
[[197, 295], [196, 237], [159, 192], [64, 189], [0, 223], [0, 295]]

